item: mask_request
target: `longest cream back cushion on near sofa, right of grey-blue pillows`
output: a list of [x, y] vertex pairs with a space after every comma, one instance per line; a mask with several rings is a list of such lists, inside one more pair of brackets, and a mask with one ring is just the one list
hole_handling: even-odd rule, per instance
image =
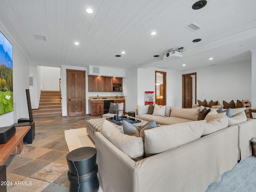
[[161, 153], [202, 136], [205, 120], [166, 125], [145, 130], [145, 157]]

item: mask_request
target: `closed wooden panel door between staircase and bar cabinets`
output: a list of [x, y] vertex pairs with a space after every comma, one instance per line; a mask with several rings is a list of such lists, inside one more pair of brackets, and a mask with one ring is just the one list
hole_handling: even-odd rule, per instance
[[66, 70], [67, 74], [67, 115], [85, 115], [85, 71]]

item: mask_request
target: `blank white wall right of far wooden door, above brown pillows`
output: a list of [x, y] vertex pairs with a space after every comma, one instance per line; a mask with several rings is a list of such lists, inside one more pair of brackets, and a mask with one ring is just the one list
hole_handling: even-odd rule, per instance
[[196, 72], [197, 100], [218, 100], [220, 104], [223, 100], [251, 100], [251, 61], [211, 66], [183, 74], [192, 72]]

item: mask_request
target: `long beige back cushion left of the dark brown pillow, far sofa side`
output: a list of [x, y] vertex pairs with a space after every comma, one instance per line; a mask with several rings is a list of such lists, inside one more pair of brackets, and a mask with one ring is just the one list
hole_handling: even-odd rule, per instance
[[170, 117], [179, 117], [179, 118], [191, 119], [196, 121], [198, 118], [199, 111], [200, 111], [199, 108], [184, 109], [184, 108], [172, 107]]

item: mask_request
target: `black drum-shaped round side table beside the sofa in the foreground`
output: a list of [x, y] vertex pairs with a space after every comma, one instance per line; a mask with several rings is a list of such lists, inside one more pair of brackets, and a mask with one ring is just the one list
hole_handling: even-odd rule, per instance
[[78, 148], [67, 154], [69, 192], [98, 192], [96, 155], [93, 147]]

